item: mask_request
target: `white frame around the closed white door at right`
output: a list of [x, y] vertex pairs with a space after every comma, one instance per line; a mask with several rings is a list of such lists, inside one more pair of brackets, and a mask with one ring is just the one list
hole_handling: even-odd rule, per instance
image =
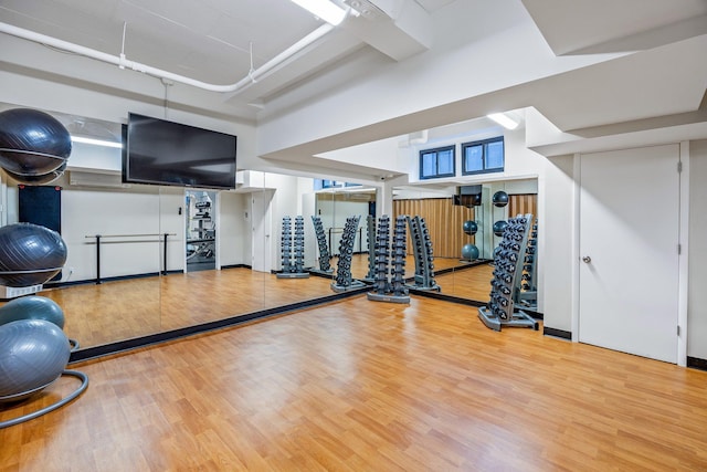
[[[675, 144], [663, 143], [661, 145]], [[648, 147], [648, 146], [645, 146]], [[616, 148], [616, 149], [597, 149], [593, 153], [602, 153], [609, 150], [623, 150], [623, 149], [640, 149], [636, 148]], [[585, 153], [590, 154], [590, 153]], [[572, 313], [571, 313], [571, 329], [572, 342], [579, 343], [579, 295], [580, 295], [580, 195], [581, 195], [581, 156], [582, 154], [573, 155], [573, 189], [572, 189]], [[678, 244], [680, 251], [678, 255], [678, 293], [677, 293], [677, 324], [679, 333], [677, 336], [677, 365], [682, 367], [687, 366], [687, 286], [688, 286], [688, 260], [689, 260], [689, 141], [679, 143], [679, 162], [682, 165], [682, 171], [678, 175], [679, 180], [679, 228], [678, 228]]]

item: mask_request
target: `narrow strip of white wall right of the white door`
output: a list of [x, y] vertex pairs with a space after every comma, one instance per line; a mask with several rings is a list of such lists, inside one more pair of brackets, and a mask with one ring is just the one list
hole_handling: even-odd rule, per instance
[[687, 355], [707, 359], [707, 140], [689, 144]]

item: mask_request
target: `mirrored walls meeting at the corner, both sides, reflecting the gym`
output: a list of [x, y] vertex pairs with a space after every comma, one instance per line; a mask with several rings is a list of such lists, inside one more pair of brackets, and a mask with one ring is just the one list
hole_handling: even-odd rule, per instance
[[[72, 133], [120, 143], [119, 124], [57, 116]], [[48, 212], [61, 223], [68, 256], [41, 295], [64, 310], [66, 334], [83, 348], [331, 295], [342, 250], [350, 252], [350, 279], [373, 282], [380, 188], [254, 170], [239, 171], [235, 190], [124, 183], [120, 158], [118, 148], [74, 143], [70, 165], [49, 185], [0, 176], [1, 225], [41, 223], [36, 218]], [[46, 198], [38, 204], [29, 188], [49, 189], [55, 204]], [[462, 196], [469, 188], [477, 201]], [[400, 186], [389, 216], [423, 221], [432, 290], [485, 302], [499, 225], [518, 213], [537, 217], [537, 191], [535, 179]], [[494, 199], [499, 192], [504, 204]], [[348, 228], [351, 217], [357, 221]], [[405, 251], [404, 279], [419, 286], [410, 227]], [[283, 277], [293, 264], [307, 276]], [[531, 306], [532, 271], [523, 283], [519, 301]]]

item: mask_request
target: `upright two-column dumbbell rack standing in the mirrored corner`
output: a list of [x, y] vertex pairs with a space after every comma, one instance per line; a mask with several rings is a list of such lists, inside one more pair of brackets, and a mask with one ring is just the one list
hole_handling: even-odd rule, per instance
[[[376, 237], [376, 280], [373, 291], [368, 292], [368, 300], [374, 302], [410, 303], [410, 295], [405, 287], [405, 228], [408, 217], [395, 219], [393, 232], [392, 261], [390, 261], [390, 217], [383, 214], [378, 220]], [[390, 281], [388, 268], [391, 262]]]

